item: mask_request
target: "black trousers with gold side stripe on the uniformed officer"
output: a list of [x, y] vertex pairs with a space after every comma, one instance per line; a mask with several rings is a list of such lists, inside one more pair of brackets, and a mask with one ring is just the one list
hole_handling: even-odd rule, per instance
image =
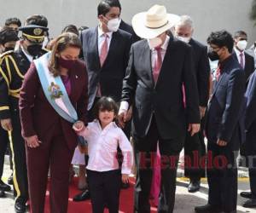
[[25, 141], [21, 136], [20, 114], [18, 111], [12, 112], [11, 120], [13, 130], [11, 132], [10, 147], [13, 155], [15, 200], [21, 200], [21, 202], [26, 203], [28, 199], [26, 149]]

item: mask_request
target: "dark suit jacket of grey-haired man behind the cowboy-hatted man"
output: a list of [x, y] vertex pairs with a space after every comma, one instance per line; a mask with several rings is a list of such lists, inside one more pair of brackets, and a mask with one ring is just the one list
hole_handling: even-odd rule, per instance
[[201, 107], [207, 107], [209, 98], [209, 75], [211, 70], [207, 56], [207, 46], [195, 41], [193, 38], [190, 39], [189, 44], [192, 46], [193, 50], [199, 105]]

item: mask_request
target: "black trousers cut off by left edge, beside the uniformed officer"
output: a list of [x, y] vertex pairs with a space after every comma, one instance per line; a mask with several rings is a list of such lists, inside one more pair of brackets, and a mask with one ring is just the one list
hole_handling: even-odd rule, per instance
[[3, 176], [4, 155], [6, 153], [8, 144], [8, 131], [3, 130], [2, 126], [0, 125], [0, 179], [2, 179]]

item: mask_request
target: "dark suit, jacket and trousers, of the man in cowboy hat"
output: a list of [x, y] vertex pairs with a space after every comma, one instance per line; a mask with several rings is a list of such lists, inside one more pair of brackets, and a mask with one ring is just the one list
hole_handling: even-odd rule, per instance
[[[159, 141], [162, 158], [168, 168], [161, 170], [159, 212], [172, 212], [176, 187], [176, 164], [183, 148], [186, 122], [199, 124], [199, 102], [192, 66], [191, 48], [170, 37], [166, 55], [155, 84], [151, 67], [151, 50], [147, 40], [134, 43], [123, 83], [122, 101], [133, 103], [132, 135], [137, 164], [135, 211], [150, 212], [148, 196], [152, 181], [152, 164], [144, 164], [155, 153]], [[187, 94], [187, 114], [183, 106], [183, 89]], [[174, 157], [175, 161], [168, 160]], [[172, 158], [173, 159], [173, 158]], [[144, 168], [149, 166], [149, 168]]]

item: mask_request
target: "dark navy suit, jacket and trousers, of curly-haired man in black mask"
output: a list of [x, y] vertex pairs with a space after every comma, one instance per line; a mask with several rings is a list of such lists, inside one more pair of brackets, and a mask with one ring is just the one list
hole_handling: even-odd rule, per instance
[[[221, 63], [220, 70], [222, 74], [214, 85], [207, 108], [208, 203], [230, 212], [236, 210], [237, 199], [237, 156], [234, 151], [244, 140], [245, 74], [231, 55]], [[218, 139], [227, 141], [227, 146], [218, 146]], [[222, 163], [218, 166], [218, 162]]]

